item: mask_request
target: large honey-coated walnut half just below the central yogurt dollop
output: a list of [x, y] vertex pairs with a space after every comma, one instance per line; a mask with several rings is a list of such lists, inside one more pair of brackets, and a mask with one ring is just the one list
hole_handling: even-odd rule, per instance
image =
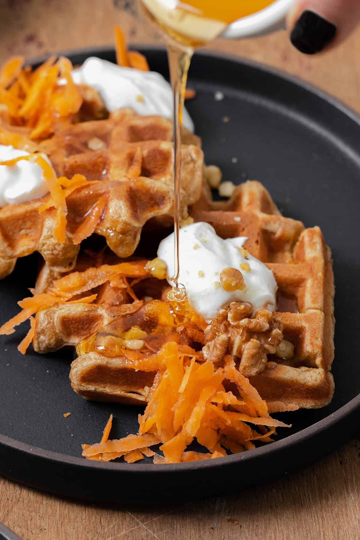
[[249, 302], [232, 302], [227, 309], [220, 309], [219, 315], [205, 329], [204, 357], [218, 363], [226, 354], [231, 354], [240, 358], [242, 375], [251, 377], [261, 373], [267, 355], [275, 354], [283, 340], [282, 323], [267, 309], [258, 309], [250, 319], [252, 312]]

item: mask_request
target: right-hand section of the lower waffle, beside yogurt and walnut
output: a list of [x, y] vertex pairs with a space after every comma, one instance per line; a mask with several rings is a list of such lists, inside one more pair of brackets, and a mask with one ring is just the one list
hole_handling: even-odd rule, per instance
[[191, 212], [207, 221], [223, 238], [246, 236], [244, 247], [275, 275], [277, 315], [284, 338], [295, 345], [291, 361], [271, 359], [250, 382], [267, 401], [299, 407], [328, 404], [334, 393], [329, 373], [334, 359], [334, 275], [330, 249], [320, 228], [304, 229], [300, 221], [284, 218], [267, 190], [248, 181], [225, 202], [205, 193]]

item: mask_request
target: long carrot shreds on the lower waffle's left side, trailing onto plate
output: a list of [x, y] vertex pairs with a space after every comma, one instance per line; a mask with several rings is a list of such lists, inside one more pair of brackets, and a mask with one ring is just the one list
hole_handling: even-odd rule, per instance
[[[18, 305], [22, 308], [21, 312], [8, 322], [5, 322], [0, 328], [0, 335], [12, 334], [15, 332], [15, 326], [21, 325], [22, 322], [30, 318], [31, 328], [29, 333], [18, 347], [19, 351], [25, 354], [36, 329], [36, 321], [33, 320], [32, 315], [36, 314], [40, 309], [66, 302], [92, 303], [97, 299], [97, 294], [91, 294], [76, 300], [72, 300], [72, 298], [91, 291], [91, 289], [103, 285], [107, 281], [110, 283], [116, 281], [118, 284], [120, 279], [123, 279], [124, 287], [130, 287], [126, 282], [126, 278], [146, 278], [149, 275], [145, 268], [146, 262], [146, 260], [121, 262], [118, 265], [101, 265], [97, 268], [88, 268], [84, 272], [72, 272], [54, 281], [47, 293], [38, 293], [35, 289], [29, 289], [33, 296], [18, 302]], [[139, 308], [141, 304], [142, 302], [138, 300], [136, 307]]]

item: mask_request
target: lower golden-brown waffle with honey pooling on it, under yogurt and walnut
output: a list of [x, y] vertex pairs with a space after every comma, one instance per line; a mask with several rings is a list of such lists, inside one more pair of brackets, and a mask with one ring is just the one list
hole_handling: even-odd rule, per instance
[[[279, 286], [276, 315], [282, 320], [284, 339], [295, 345], [295, 355], [290, 361], [269, 355], [266, 369], [250, 377], [250, 382], [268, 402], [281, 401], [301, 408], [325, 406], [334, 392], [329, 373], [334, 357], [334, 279], [330, 250], [320, 229], [304, 229], [301, 222], [282, 217], [257, 182], [239, 186], [226, 203], [202, 198], [199, 206], [192, 208], [193, 218], [209, 222], [223, 238], [247, 236], [244, 247], [274, 272]], [[223, 207], [226, 210], [221, 210]], [[157, 246], [153, 247], [155, 250]], [[141, 295], [164, 298], [164, 282], [151, 285], [145, 280], [141, 287]], [[108, 306], [100, 304], [78, 304], [76, 308], [69, 305], [39, 312], [35, 349], [55, 350], [89, 335], [91, 332], [77, 323], [86, 320], [88, 313], [96, 313], [99, 318], [91, 328], [97, 332], [109, 317], [116, 316], [115, 311], [110, 314], [106, 309]], [[84, 332], [80, 335], [76, 330], [72, 335], [71, 328], [84, 328]], [[121, 357], [109, 359], [97, 352], [79, 356], [70, 373], [74, 390], [86, 399], [127, 403], [146, 402], [153, 376], [129, 368]]]

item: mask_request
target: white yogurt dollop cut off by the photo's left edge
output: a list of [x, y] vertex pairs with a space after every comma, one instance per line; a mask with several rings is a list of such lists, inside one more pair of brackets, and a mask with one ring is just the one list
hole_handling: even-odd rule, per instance
[[[25, 150], [0, 144], [0, 163], [10, 159], [29, 156]], [[47, 163], [49, 158], [40, 154]], [[13, 166], [0, 165], [0, 207], [8, 204], [27, 203], [49, 193], [42, 168], [31, 161], [20, 160]]]

